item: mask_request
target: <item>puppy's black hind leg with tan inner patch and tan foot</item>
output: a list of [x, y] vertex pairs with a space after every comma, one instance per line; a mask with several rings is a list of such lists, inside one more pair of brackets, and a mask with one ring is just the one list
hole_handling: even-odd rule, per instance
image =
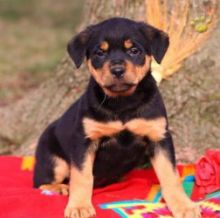
[[68, 186], [62, 183], [69, 177], [69, 165], [63, 158], [58, 157], [62, 156], [62, 151], [53, 129], [54, 123], [45, 130], [39, 140], [34, 168], [34, 187], [67, 195]]

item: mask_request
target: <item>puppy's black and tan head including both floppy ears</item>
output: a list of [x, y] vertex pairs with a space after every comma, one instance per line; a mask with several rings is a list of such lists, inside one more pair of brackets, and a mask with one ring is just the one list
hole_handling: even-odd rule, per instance
[[145, 23], [112, 18], [89, 26], [68, 44], [79, 68], [84, 57], [90, 73], [111, 97], [131, 95], [150, 71], [151, 57], [160, 63], [168, 36]]

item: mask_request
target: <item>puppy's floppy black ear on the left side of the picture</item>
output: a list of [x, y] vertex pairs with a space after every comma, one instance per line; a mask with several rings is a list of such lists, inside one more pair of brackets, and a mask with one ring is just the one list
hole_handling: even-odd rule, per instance
[[89, 38], [92, 34], [92, 28], [87, 27], [85, 30], [76, 35], [67, 45], [67, 51], [79, 68], [86, 56]]

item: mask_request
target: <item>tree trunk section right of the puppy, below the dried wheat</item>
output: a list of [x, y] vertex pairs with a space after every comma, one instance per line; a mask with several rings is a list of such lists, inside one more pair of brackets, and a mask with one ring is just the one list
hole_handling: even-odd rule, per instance
[[[220, 148], [220, 22], [199, 53], [161, 84], [178, 160]], [[202, 45], [201, 45], [202, 46]]]

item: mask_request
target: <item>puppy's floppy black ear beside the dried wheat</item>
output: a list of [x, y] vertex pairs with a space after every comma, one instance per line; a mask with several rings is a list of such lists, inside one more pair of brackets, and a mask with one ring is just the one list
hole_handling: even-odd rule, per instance
[[150, 46], [151, 54], [157, 63], [160, 64], [169, 46], [168, 35], [165, 32], [142, 22], [140, 23], [140, 30], [149, 43], [147, 46]]

